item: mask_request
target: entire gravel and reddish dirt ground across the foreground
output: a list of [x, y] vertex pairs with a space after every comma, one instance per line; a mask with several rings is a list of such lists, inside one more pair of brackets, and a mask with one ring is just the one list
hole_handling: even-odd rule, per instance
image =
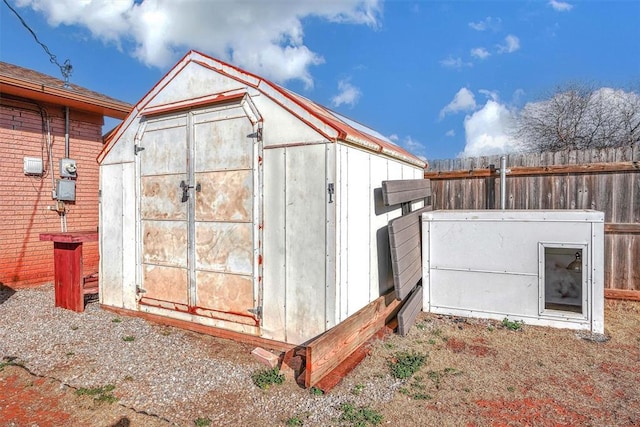
[[[16, 358], [42, 377], [2, 371], [0, 395], [9, 383], [15, 392], [0, 398], [0, 426], [364, 425], [340, 419], [344, 403], [394, 426], [640, 426], [639, 302], [605, 301], [605, 336], [501, 323], [422, 313], [406, 337], [375, 342], [338, 386], [316, 396], [293, 380], [255, 386], [251, 374], [264, 366], [252, 346], [117, 316], [97, 303], [84, 313], [55, 308], [51, 285], [0, 286], [0, 361]], [[414, 352], [427, 356], [424, 366], [394, 378], [390, 363]], [[44, 400], [32, 394], [37, 384], [49, 390]], [[3, 424], [3, 408], [8, 416], [29, 410], [22, 400], [46, 409], [65, 385], [109, 384], [119, 402], [74, 400], [62, 408], [73, 423]], [[114, 415], [130, 423], [114, 424]]]

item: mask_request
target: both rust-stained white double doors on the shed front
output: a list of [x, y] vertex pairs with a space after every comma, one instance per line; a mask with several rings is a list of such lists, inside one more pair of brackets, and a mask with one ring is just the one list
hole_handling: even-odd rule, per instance
[[136, 146], [142, 305], [259, 320], [253, 133], [239, 105], [147, 120]]

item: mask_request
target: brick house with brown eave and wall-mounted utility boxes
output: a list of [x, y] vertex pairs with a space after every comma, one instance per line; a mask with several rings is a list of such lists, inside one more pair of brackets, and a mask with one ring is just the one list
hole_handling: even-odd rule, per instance
[[[104, 116], [131, 105], [0, 62], [0, 285], [53, 281], [53, 246], [40, 233], [96, 230]], [[61, 169], [62, 167], [62, 169]], [[84, 271], [98, 270], [98, 243]]]

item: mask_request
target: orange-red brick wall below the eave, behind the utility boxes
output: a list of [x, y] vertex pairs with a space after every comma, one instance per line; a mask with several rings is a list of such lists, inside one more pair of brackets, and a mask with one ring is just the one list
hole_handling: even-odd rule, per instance
[[[53, 162], [47, 154], [46, 128], [38, 106], [0, 99], [0, 284], [29, 287], [53, 281], [53, 242], [40, 233], [61, 231], [61, 215], [51, 210], [51, 176], [60, 177], [65, 154], [65, 120], [61, 106], [41, 105], [49, 117]], [[76, 160], [76, 201], [66, 202], [68, 231], [98, 226], [98, 164], [102, 149], [102, 116], [70, 111], [69, 157]], [[23, 158], [44, 161], [45, 174], [27, 176]], [[98, 271], [97, 242], [83, 245], [84, 273]]]

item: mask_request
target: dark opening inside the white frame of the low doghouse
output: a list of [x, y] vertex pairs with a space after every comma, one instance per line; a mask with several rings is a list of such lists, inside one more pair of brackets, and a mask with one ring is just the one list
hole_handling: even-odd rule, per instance
[[545, 310], [584, 313], [582, 249], [544, 248]]

